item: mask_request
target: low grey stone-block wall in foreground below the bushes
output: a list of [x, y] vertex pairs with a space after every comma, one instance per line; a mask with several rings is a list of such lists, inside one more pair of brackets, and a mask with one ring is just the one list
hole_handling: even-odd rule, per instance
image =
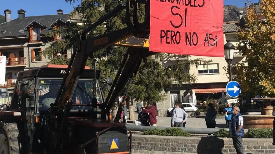
[[[243, 138], [244, 153], [275, 153], [272, 138]], [[133, 135], [133, 154], [235, 154], [232, 138]]]

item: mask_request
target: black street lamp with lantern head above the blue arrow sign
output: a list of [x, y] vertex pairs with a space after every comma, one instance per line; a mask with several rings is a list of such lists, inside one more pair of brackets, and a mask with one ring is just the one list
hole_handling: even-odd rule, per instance
[[224, 44], [224, 57], [228, 63], [229, 77], [230, 77], [230, 81], [232, 81], [231, 61], [234, 58], [235, 46], [232, 43], [230, 43], [230, 40], [226, 40], [226, 41], [227, 41], [227, 43]]

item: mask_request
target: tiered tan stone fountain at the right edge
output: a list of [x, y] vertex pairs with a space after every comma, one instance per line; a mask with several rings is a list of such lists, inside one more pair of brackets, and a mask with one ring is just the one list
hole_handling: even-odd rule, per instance
[[272, 116], [273, 107], [271, 101], [275, 98], [253, 98], [251, 100], [263, 101], [261, 115], [243, 115], [244, 128], [273, 128], [274, 116]]

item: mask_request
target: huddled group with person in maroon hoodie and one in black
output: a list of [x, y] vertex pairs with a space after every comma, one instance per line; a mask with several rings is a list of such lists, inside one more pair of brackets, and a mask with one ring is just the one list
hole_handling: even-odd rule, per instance
[[143, 107], [140, 100], [137, 100], [136, 109], [138, 112], [138, 119], [134, 121], [135, 125], [142, 126], [157, 126], [157, 107], [153, 105], [152, 101], [148, 102], [148, 109]]

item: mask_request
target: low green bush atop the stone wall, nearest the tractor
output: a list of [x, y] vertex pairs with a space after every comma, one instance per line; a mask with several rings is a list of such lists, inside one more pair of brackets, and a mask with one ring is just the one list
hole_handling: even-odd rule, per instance
[[160, 130], [158, 128], [146, 130], [143, 135], [160, 135], [160, 136], [190, 136], [190, 133], [183, 131], [181, 128], [166, 128]]

